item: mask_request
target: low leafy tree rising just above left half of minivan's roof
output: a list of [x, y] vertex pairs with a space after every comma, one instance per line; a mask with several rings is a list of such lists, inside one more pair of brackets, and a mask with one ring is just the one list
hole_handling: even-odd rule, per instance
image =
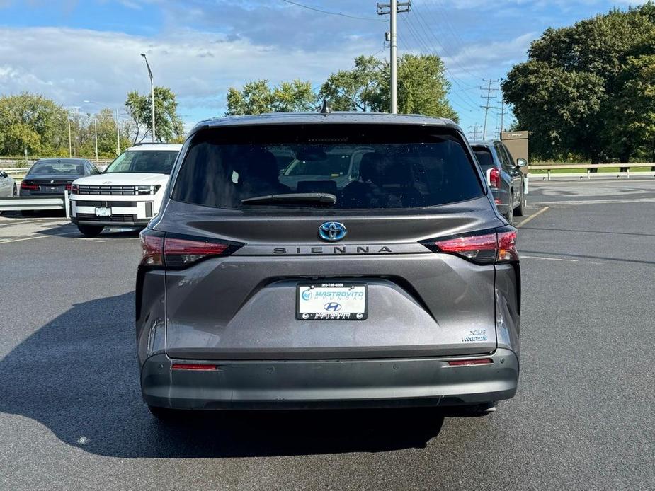
[[266, 112], [313, 110], [316, 96], [312, 84], [295, 79], [270, 88], [268, 80], [251, 81], [239, 89], [227, 91], [227, 115], [251, 115]]

